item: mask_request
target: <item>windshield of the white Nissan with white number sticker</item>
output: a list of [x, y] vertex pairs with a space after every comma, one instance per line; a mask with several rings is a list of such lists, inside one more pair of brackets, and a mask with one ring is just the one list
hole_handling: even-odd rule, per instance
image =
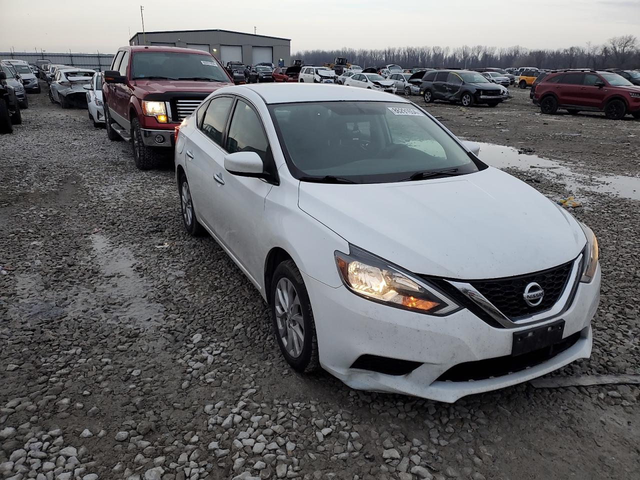
[[410, 103], [305, 102], [274, 104], [269, 111], [297, 177], [380, 183], [428, 170], [479, 170], [440, 125]]

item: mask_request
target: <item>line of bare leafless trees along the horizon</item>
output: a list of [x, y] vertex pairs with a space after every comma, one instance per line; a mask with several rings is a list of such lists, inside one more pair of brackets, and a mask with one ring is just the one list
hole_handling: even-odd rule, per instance
[[565, 49], [527, 49], [462, 45], [461, 47], [389, 47], [386, 49], [304, 50], [291, 58], [300, 58], [307, 65], [333, 63], [344, 57], [349, 63], [362, 67], [381, 67], [396, 63], [404, 68], [640, 68], [640, 45], [636, 36], [621, 35], [607, 43]]

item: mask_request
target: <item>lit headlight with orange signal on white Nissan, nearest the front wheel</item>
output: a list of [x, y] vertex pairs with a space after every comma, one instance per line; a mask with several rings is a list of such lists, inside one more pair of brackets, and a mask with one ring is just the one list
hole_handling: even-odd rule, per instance
[[349, 254], [336, 251], [335, 263], [344, 285], [356, 295], [423, 314], [445, 316], [460, 305], [424, 280], [353, 245]]

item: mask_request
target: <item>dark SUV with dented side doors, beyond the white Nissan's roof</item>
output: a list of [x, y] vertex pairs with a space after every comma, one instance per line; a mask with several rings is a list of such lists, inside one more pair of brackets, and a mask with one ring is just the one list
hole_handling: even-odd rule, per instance
[[509, 90], [469, 70], [432, 70], [422, 77], [420, 95], [426, 103], [433, 100], [460, 102], [465, 107], [487, 104], [495, 107], [508, 99]]

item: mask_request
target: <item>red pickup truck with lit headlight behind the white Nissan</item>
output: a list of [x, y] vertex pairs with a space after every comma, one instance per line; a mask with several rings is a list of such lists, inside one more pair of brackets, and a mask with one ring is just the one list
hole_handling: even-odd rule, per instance
[[233, 85], [209, 52], [175, 47], [118, 49], [104, 72], [102, 97], [109, 140], [131, 140], [140, 170], [172, 148], [173, 131], [209, 93]]

